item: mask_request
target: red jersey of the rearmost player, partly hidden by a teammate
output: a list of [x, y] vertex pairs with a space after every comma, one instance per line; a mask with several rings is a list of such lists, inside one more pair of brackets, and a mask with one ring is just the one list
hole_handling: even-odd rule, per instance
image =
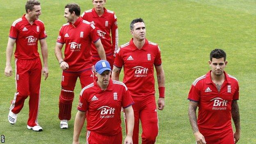
[[[106, 56], [114, 55], [118, 48], [117, 16], [114, 14], [114, 11], [110, 11], [104, 7], [103, 15], [98, 16], [95, 9], [93, 8], [83, 12], [81, 17], [95, 25], [98, 35], [101, 37], [101, 43], [104, 47]], [[91, 52], [93, 57], [99, 57], [94, 43], [92, 43]]]

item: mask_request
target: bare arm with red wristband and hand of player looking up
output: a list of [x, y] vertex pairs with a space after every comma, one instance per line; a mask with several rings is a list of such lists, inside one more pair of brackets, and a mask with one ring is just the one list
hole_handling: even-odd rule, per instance
[[[165, 71], [160, 66], [155, 66], [156, 76], [158, 80], [158, 89], [159, 89], [159, 99], [158, 99], [158, 110], [164, 110], [165, 107]], [[162, 91], [161, 91], [162, 89]], [[161, 96], [162, 95], [162, 96]]]

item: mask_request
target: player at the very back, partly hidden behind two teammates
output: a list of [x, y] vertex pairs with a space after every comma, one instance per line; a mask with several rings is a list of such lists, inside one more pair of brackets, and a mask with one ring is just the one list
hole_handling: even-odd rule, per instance
[[[92, 4], [94, 8], [83, 12], [81, 17], [96, 27], [105, 49], [107, 61], [113, 68], [114, 56], [118, 48], [117, 16], [114, 11], [105, 8], [106, 0], [92, 0]], [[100, 57], [94, 43], [92, 43], [91, 47], [92, 63], [95, 65], [100, 60]]]

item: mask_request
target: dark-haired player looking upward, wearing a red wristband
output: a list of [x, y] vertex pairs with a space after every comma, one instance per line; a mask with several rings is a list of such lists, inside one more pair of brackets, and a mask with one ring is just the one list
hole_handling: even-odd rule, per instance
[[142, 144], [154, 144], [158, 135], [158, 115], [155, 105], [154, 66], [158, 80], [158, 110], [165, 106], [165, 73], [160, 49], [146, 39], [146, 27], [142, 18], [130, 23], [133, 38], [117, 50], [112, 79], [119, 80], [123, 67], [123, 83], [128, 87], [135, 104], [133, 144], [138, 144], [139, 120], [142, 123]]

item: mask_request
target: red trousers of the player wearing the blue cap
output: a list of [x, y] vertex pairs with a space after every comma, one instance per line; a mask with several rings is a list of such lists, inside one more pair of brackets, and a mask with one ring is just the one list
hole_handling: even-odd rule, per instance
[[122, 144], [122, 131], [117, 135], [101, 135], [94, 131], [87, 130], [86, 144]]

